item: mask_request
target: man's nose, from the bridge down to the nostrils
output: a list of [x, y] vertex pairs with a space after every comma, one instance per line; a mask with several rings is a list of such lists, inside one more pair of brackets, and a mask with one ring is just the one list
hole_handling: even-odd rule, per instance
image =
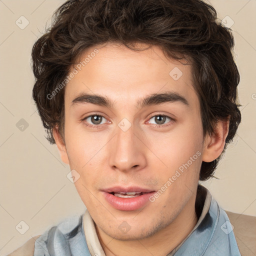
[[109, 166], [122, 172], [138, 171], [146, 166], [147, 147], [131, 125], [124, 131], [116, 127], [116, 135], [108, 144]]

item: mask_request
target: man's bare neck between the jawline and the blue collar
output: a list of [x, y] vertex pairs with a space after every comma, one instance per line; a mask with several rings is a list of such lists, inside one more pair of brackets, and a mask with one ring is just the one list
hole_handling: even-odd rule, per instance
[[117, 240], [108, 236], [97, 226], [96, 231], [106, 256], [165, 256], [185, 239], [197, 221], [195, 196], [192, 196], [168, 226], [150, 237], [137, 240]]

